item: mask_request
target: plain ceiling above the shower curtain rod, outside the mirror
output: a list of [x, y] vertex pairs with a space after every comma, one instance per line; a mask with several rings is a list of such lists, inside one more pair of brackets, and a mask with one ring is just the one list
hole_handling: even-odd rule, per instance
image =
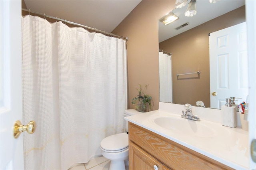
[[[27, 9], [112, 32], [141, 0], [24, 0]], [[124, 35], [126, 36], [126, 35]]]

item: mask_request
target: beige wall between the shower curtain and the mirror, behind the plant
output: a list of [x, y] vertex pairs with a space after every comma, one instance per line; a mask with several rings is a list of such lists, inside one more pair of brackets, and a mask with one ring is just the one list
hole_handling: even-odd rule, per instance
[[159, 104], [158, 19], [174, 9], [175, 0], [142, 0], [114, 29], [113, 33], [128, 36], [128, 109], [134, 109], [132, 98], [138, 95], [138, 84], [149, 85], [147, 94]]

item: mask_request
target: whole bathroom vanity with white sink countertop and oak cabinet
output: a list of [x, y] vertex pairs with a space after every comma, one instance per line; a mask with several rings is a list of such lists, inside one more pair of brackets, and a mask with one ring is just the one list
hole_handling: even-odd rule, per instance
[[248, 132], [222, 126], [218, 109], [201, 109], [192, 108], [198, 122], [181, 118], [182, 105], [161, 102], [125, 118], [130, 169], [248, 169]]

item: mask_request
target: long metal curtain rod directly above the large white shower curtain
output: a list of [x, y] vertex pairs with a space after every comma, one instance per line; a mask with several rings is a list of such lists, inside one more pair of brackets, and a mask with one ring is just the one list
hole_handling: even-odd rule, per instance
[[29, 12], [29, 15], [30, 15], [30, 12], [31, 12], [33, 14], [41, 15], [41, 16], [44, 16], [44, 17], [47, 17], [47, 18], [56, 19], [56, 21], [59, 20], [59, 21], [62, 21], [62, 22], [68, 23], [68, 24], [72, 24], [72, 25], [75, 25], [75, 26], [80, 26], [80, 27], [83, 27], [83, 28], [86, 28], [86, 29], [94, 30], [95, 32], [100, 32], [102, 34], [107, 34], [107, 35], [114, 36], [114, 37], [117, 37], [117, 38], [122, 38], [122, 39], [125, 39], [126, 41], [128, 41], [128, 37], [119, 36], [119, 35], [116, 35], [116, 34], [105, 32], [105, 31], [102, 31], [102, 30], [98, 30], [96, 28], [91, 28], [91, 27], [88, 27], [88, 26], [84, 26], [82, 24], [77, 24], [76, 22], [71, 22], [71, 21], [63, 20], [63, 19], [60, 19], [60, 18], [57, 18], [57, 17], [54, 17], [54, 16], [50, 16], [50, 15], [46, 15], [46, 14], [41, 14], [39, 12], [31, 11], [30, 9], [28, 10], [28, 9], [22, 8], [22, 10]]

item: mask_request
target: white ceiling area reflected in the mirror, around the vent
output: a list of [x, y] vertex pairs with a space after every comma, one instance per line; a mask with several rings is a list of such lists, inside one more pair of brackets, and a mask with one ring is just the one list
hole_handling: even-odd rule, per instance
[[[219, 0], [215, 4], [210, 4], [209, 0], [196, 0], [196, 10], [195, 16], [186, 17], [184, 15], [188, 4], [182, 8], [177, 8], [173, 10], [174, 14], [179, 17], [178, 20], [165, 26], [162, 22], [159, 22], [159, 42], [167, 40], [173, 36], [176, 36], [182, 32], [190, 30], [204, 22], [212, 20], [218, 16], [226, 14], [240, 6], [245, 4], [244, 0]], [[183, 25], [188, 22], [189, 25], [181, 28], [180, 30], [175, 30], [178, 26]]]

